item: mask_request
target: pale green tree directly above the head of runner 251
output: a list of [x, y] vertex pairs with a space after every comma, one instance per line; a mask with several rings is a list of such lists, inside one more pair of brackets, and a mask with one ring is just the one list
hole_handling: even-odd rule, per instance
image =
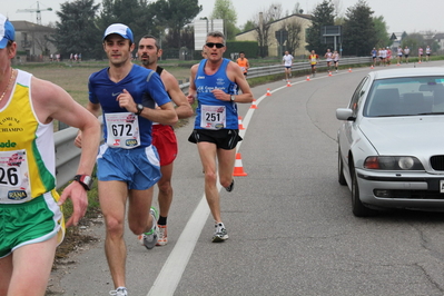
[[234, 40], [239, 29], [236, 28], [237, 13], [231, 0], [216, 0], [210, 19], [224, 20], [227, 40]]

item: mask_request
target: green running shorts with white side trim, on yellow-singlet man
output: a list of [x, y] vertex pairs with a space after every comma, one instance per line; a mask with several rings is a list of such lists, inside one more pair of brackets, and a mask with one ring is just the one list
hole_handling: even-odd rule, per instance
[[56, 190], [23, 204], [0, 204], [0, 258], [19, 247], [65, 237], [65, 219]]

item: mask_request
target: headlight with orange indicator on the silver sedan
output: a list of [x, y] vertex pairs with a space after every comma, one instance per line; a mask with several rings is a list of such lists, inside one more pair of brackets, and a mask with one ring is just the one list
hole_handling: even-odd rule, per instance
[[413, 156], [369, 156], [364, 161], [366, 169], [424, 170], [420, 159]]

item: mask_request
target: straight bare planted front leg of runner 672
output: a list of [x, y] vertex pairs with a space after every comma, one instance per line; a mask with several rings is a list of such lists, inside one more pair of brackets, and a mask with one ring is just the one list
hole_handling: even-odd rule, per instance
[[127, 247], [124, 240], [124, 229], [127, 195], [126, 182], [99, 180], [100, 208], [106, 226], [105, 254], [115, 288], [125, 287], [126, 284]]

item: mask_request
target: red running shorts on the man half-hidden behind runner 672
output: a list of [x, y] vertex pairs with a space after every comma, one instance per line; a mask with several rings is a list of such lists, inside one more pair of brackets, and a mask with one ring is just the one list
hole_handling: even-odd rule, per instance
[[160, 166], [172, 164], [177, 157], [177, 138], [171, 126], [152, 126], [152, 145], [160, 158]]

